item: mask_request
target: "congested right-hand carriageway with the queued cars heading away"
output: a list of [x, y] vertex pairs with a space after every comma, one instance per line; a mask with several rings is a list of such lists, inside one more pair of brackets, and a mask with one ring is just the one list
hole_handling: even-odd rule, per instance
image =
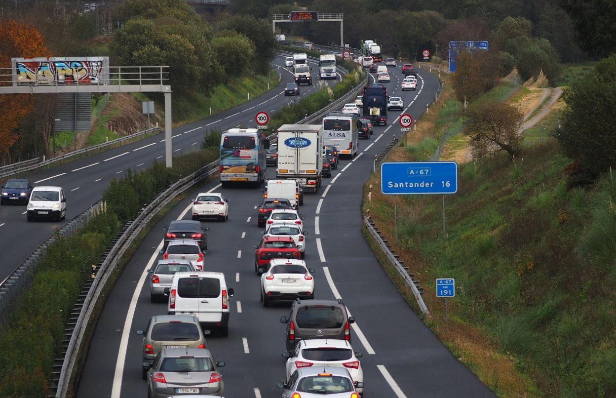
[[[391, 76], [392, 82], [385, 84], [388, 94], [402, 96], [407, 112], [419, 118], [434, 97], [436, 76], [420, 70], [418, 90], [408, 92], [400, 92], [399, 67], [391, 70]], [[354, 160], [342, 159], [332, 177], [323, 179], [318, 193], [305, 195], [300, 212], [309, 232], [305, 260], [316, 269], [315, 298], [342, 298], [355, 317], [352, 345], [364, 354], [361, 362], [368, 398], [493, 397], [411, 311], [361, 232], [362, 187], [375, 154], [399, 134], [396, 116], [400, 113], [388, 112], [389, 125], [375, 126], [370, 139], [360, 139], [360, 153]], [[162, 151], [162, 146], [158, 149]], [[268, 176], [275, 177], [273, 167]], [[217, 180], [201, 185], [195, 194], [208, 191], [222, 192], [231, 199], [229, 221], [204, 221], [211, 228], [205, 270], [224, 272], [227, 286], [235, 289], [230, 299], [229, 337], [208, 338], [214, 358], [227, 363], [221, 369], [224, 395], [280, 397], [282, 390], [275, 385], [284, 380], [285, 325], [279, 319], [288, 315], [289, 305], [263, 308], [259, 303], [253, 245], [262, 237], [256, 223], [256, 205], [262, 194], [254, 188], [222, 189]], [[142, 338], [136, 331], [145, 328], [153, 315], [166, 314], [166, 304], [150, 303], [146, 272], [159, 258], [162, 228], [174, 219], [190, 219], [191, 205], [190, 197], [182, 200], [153, 227], [110, 291], [82, 368], [78, 397], [146, 396], [141, 378]]]

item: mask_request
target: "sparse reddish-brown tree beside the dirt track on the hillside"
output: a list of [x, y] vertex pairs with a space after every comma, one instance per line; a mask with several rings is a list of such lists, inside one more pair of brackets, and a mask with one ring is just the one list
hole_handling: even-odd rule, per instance
[[480, 101], [464, 112], [463, 134], [475, 158], [505, 151], [514, 159], [522, 150], [522, 113], [501, 102]]

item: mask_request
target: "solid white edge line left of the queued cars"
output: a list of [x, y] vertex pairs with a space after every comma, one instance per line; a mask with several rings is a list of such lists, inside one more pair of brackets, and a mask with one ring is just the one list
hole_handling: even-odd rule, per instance
[[[206, 193], [210, 193], [213, 190], [221, 187], [222, 184], [216, 185]], [[186, 206], [184, 211], [177, 217], [178, 220], [184, 218], [185, 214], [188, 213], [188, 210], [192, 208], [192, 203]], [[137, 286], [135, 286], [135, 291], [132, 293], [131, 304], [128, 307], [128, 313], [126, 314], [126, 320], [124, 320], [124, 328], [122, 329], [122, 338], [120, 340], [120, 347], [118, 349], [118, 362], [116, 362], [115, 372], [113, 374], [113, 386], [111, 388], [111, 398], [120, 398], [120, 393], [122, 390], [122, 378], [124, 376], [124, 363], [126, 362], [126, 349], [128, 347], [128, 339], [131, 334], [132, 327], [132, 319], [135, 315], [135, 309], [137, 307], [137, 301], [139, 301], [139, 294], [144, 287], [145, 280], [147, 279], [148, 270], [152, 267], [153, 262], [156, 260], [158, 256], [158, 252], [163, 248], [163, 240], [158, 243], [156, 250], [152, 253], [152, 257], [145, 264], [144, 271], [139, 278], [139, 282], [137, 282]]]

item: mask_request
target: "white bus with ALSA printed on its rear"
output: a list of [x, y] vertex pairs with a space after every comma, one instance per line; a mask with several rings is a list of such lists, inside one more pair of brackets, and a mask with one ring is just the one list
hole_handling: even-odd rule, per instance
[[330, 112], [323, 118], [323, 145], [334, 145], [341, 155], [355, 156], [359, 144], [359, 117]]

